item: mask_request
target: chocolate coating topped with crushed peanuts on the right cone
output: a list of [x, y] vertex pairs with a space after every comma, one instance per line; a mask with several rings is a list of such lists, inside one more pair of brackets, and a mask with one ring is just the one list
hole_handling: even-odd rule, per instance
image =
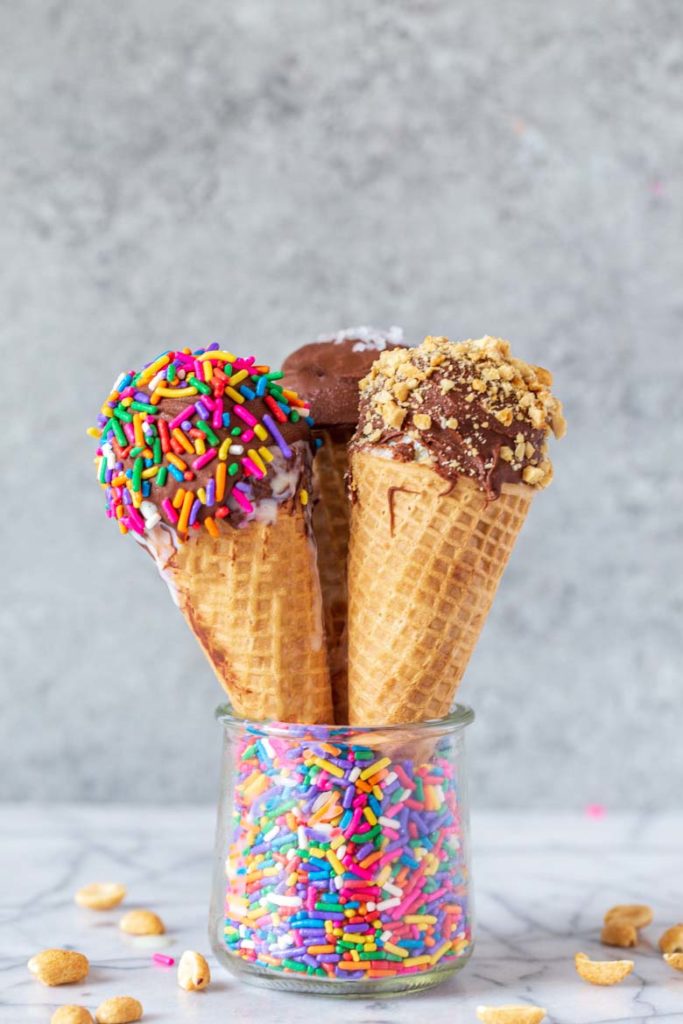
[[548, 371], [515, 359], [500, 339], [427, 338], [381, 356], [364, 379], [351, 447], [387, 446], [445, 479], [468, 476], [488, 499], [505, 483], [543, 487], [552, 478], [548, 434], [564, 432], [550, 383]]

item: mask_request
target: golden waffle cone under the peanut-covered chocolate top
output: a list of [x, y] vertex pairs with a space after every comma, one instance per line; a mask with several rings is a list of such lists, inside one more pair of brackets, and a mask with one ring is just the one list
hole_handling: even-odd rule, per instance
[[533, 490], [355, 452], [349, 550], [352, 725], [447, 714]]

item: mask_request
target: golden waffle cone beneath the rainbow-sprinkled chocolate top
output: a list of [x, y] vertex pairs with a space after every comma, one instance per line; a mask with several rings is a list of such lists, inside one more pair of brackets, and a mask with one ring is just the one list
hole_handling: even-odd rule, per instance
[[177, 550], [156, 527], [146, 546], [238, 715], [332, 721], [315, 549], [301, 506]]

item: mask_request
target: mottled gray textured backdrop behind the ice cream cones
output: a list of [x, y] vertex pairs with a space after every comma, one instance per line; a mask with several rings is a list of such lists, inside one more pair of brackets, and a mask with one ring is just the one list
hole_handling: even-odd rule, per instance
[[475, 799], [680, 804], [681, 20], [0, 3], [0, 796], [214, 798], [219, 688], [92, 478], [118, 371], [373, 323], [509, 337], [566, 402], [461, 691]]

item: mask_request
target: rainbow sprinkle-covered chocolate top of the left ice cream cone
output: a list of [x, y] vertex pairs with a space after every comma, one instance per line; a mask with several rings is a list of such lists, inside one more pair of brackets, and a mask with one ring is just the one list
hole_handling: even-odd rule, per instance
[[268, 474], [273, 452], [293, 456], [283, 424], [313, 425], [282, 378], [217, 344], [162, 352], [121, 374], [88, 431], [99, 441], [106, 514], [121, 532], [164, 522], [181, 538], [202, 527], [217, 537], [216, 520], [252, 515], [253, 483]]

